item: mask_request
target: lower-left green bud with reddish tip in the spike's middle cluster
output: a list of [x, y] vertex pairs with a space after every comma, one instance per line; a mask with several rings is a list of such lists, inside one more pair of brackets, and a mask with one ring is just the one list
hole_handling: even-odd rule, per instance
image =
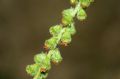
[[49, 49], [54, 49], [57, 46], [57, 37], [52, 37], [45, 41], [45, 46]]

